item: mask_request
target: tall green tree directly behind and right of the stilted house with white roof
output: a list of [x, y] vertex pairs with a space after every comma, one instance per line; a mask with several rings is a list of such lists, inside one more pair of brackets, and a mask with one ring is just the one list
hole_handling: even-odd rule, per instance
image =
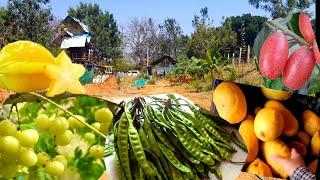
[[89, 26], [101, 56], [109, 59], [122, 56], [120, 32], [113, 14], [103, 12], [98, 4], [82, 2], [76, 8], [70, 8], [68, 14]]

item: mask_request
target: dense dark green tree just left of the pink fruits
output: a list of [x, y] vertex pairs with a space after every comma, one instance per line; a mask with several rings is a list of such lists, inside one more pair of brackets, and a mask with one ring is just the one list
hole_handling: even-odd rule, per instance
[[243, 14], [241, 16], [228, 17], [223, 26], [230, 24], [232, 30], [237, 33], [237, 46], [241, 44], [253, 46], [254, 39], [262, 29], [267, 18]]

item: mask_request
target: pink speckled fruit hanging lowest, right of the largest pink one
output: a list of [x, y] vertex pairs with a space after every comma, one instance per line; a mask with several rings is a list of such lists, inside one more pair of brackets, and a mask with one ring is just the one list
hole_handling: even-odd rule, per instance
[[283, 74], [283, 83], [286, 87], [298, 90], [310, 77], [315, 66], [315, 58], [306, 46], [293, 52], [286, 64]]

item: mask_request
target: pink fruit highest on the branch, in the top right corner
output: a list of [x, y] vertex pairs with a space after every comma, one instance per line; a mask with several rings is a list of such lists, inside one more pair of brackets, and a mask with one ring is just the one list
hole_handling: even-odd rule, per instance
[[310, 44], [315, 40], [310, 17], [308, 14], [301, 12], [299, 15], [299, 29], [302, 37]]

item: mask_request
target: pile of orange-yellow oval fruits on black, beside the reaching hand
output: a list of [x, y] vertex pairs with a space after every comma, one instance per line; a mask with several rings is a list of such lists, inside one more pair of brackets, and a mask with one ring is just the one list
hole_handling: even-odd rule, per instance
[[318, 99], [231, 82], [215, 84], [214, 111], [238, 128], [248, 151], [243, 171], [287, 178], [271, 156], [289, 159], [295, 148], [310, 171], [316, 172], [320, 152]]

